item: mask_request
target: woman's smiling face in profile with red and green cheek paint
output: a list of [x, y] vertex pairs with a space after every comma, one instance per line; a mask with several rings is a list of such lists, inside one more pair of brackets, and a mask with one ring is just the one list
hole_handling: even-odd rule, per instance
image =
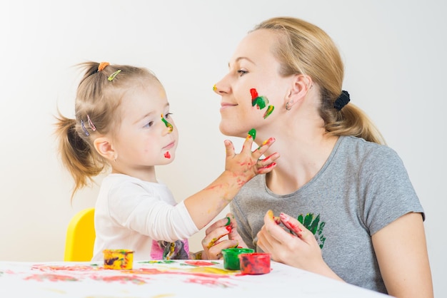
[[292, 81], [278, 74], [280, 64], [272, 53], [276, 41], [268, 29], [248, 34], [231, 57], [228, 74], [216, 83], [214, 90], [221, 96], [219, 128], [224, 135], [244, 138], [251, 128], [259, 131], [285, 111]]

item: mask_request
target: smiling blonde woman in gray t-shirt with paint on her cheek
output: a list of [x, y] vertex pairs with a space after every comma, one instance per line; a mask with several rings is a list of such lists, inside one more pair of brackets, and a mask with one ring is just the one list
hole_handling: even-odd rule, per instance
[[[402, 160], [342, 91], [343, 62], [331, 38], [301, 19], [268, 19], [228, 65], [214, 88], [221, 132], [274, 132], [281, 160], [238, 192], [230, 209], [240, 236], [233, 231], [219, 246], [237, 242], [395, 297], [433, 297], [423, 207]], [[253, 94], [275, 107], [268, 118]], [[223, 223], [211, 225], [206, 239], [220, 237]]]

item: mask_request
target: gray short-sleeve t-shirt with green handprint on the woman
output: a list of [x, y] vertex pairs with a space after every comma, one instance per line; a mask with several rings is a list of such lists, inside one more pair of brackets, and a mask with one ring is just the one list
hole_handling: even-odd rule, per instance
[[314, 233], [323, 259], [339, 277], [383, 293], [371, 235], [408, 212], [421, 212], [425, 219], [396, 152], [355, 137], [340, 137], [323, 168], [296, 192], [276, 195], [265, 175], [258, 175], [230, 208], [248, 247], [260, 250], [256, 234], [267, 210], [284, 212]]

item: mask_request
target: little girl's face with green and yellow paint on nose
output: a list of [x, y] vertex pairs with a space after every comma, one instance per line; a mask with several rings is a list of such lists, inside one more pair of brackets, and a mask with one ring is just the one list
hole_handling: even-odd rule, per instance
[[139, 177], [139, 170], [144, 172], [174, 160], [179, 133], [159, 83], [151, 82], [127, 91], [119, 109], [121, 125], [113, 143], [117, 155], [115, 167]]

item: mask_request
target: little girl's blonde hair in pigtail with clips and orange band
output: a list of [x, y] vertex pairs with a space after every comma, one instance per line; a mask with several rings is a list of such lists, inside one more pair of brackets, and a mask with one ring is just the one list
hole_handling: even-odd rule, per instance
[[147, 84], [148, 80], [161, 84], [146, 68], [96, 62], [78, 66], [84, 69], [84, 76], [76, 92], [75, 118], [59, 112], [55, 132], [62, 163], [74, 178], [71, 198], [109, 167], [109, 160], [96, 152], [94, 140], [119, 128], [121, 118], [117, 112], [124, 93], [137, 84]]

